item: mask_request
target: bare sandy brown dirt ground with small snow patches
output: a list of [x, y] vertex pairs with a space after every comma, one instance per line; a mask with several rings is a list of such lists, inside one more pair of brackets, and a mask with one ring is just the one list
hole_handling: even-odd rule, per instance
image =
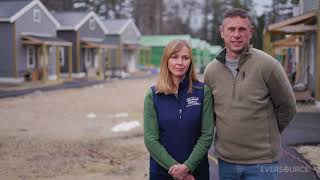
[[[0, 179], [143, 180], [143, 99], [155, 78], [0, 99]], [[299, 105], [299, 111], [318, 111]], [[115, 125], [138, 121], [128, 132]]]

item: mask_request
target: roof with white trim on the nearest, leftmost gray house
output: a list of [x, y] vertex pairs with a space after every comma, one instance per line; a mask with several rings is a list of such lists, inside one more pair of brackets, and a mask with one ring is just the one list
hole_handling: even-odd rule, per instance
[[40, 0], [1, 0], [0, 22], [13, 23], [36, 5], [40, 7], [56, 27], [60, 26], [58, 21], [50, 14], [48, 9], [40, 2]]

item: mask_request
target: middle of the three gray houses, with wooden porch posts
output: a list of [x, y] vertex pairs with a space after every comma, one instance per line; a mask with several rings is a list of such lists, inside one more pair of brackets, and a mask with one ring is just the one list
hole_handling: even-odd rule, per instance
[[[52, 12], [61, 24], [58, 37], [73, 43], [72, 69], [74, 78], [104, 78], [104, 36], [108, 32], [94, 12]], [[68, 72], [68, 65], [61, 68]]]

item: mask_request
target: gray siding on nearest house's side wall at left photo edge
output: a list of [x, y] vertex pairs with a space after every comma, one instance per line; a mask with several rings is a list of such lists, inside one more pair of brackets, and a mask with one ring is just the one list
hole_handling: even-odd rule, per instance
[[14, 77], [13, 26], [0, 22], [0, 77]]

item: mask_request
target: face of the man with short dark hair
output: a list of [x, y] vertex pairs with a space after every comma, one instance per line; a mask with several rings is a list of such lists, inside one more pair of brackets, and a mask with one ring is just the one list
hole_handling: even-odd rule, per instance
[[228, 53], [241, 54], [249, 46], [253, 28], [248, 18], [228, 17], [220, 26], [220, 34]]

